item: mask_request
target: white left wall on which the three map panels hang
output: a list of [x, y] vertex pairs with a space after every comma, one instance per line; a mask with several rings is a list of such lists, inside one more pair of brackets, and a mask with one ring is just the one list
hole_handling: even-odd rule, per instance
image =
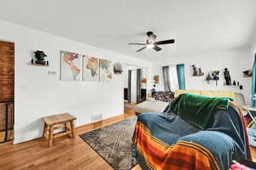
[[[15, 144], [42, 136], [42, 117], [69, 112], [76, 126], [90, 123], [90, 116], [103, 118], [123, 114], [124, 77], [113, 82], [60, 81], [60, 51], [93, 55], [150, 67], [150, 63], [108, 50], [49, 35], [0, 20], [0, 39], [15, 42]], [[96, 37], [98, 38], [98, 37]], [[49, 67], [30, 65], [33, 51], [44, 50]], [[56, 71], [56, 75], [48, 75]]]

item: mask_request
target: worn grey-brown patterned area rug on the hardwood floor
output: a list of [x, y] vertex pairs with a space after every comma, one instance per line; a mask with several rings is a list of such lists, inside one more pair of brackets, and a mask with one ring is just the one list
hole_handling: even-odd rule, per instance
[[135, 148], [131, 141], [136, 122], [137, 117], [132, 117], [108, 127], [84, 133], [80, 137], [113, 169], [128, 170], [137, 165], [134, 158]]

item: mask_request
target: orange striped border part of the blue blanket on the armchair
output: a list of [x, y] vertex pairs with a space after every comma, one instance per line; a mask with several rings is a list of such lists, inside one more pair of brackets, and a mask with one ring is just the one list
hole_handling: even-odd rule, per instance
[[133, 136], [137, 151], [152, 170], [218, 170], [212, 153], [200, 144], [177, 140], [169, 145], [155, 138], [142, 122], [137, 122]]

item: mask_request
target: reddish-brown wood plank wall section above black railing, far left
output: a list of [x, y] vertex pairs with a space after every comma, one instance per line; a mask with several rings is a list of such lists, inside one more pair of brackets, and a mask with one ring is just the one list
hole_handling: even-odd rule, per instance
[[0, 102], [14, 101], [15, 43], [0, 41]]

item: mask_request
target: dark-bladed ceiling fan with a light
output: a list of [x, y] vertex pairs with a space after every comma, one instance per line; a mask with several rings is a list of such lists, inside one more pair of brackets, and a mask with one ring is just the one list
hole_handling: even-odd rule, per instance
[[137, 52], [139, 52], [145, 48], [153, 48], [155, 51], [160, 51], [162, 48], [158, 47], [158, 45], [164, 45], [164, 44], [175, 42], [174, 39], [155, 42], [155, 39], [157, 36], [154, 34], [153, 31], [148, 31], [147, 36], [148, 36], [148, 40], [146, 41], [146, 43], [128, 43], [128, 44], [129, 45], [143, 45], [144, 46], [143, 48], [137, 49]]

